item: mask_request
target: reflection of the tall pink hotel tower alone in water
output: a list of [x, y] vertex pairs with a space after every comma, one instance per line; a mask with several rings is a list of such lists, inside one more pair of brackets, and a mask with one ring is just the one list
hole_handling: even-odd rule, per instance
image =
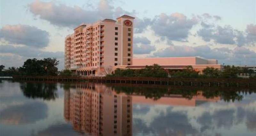
[[64, 117], [78, 132], [132, 135], [132, 97], [102, 84], [76, 84], [65, 89]]

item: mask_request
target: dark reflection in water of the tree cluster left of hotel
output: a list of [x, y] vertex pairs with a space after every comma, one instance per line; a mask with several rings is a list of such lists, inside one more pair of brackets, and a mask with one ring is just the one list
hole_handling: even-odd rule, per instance
[[20, 89], [24, 96], [32, 99], [55, 100], [58, 98], [56, 83], [23, 83]]

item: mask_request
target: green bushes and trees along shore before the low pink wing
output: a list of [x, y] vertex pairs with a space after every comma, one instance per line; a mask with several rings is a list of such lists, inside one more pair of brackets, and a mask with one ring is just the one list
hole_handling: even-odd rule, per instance
[[222, 70], [217, 68], [205, 68], [202, 73], [199, 73], [192, 66], [187, 66], [184, 69], [163, 69], [161, 66], [154, 64], [146, 66], [143, 69], [119, 69], [117, 68], [114, 74], [107, 76], [111, 77], [173, 77], [173, 78], [237, 78], [240, 73], [247, 73], [252, 78], [256, 78], [253, 70], [246, 68], [240, 69], [234, 66], [224, 66]]

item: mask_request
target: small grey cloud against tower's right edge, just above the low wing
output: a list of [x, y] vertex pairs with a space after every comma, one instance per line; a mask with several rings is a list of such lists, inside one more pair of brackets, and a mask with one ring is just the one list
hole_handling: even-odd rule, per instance
[[150, 41], [146, 37], [135, 37], [133, 44], [134, 54], [148, 54], [151, 51], [155, 51], [156, 47], [150, 45]]

